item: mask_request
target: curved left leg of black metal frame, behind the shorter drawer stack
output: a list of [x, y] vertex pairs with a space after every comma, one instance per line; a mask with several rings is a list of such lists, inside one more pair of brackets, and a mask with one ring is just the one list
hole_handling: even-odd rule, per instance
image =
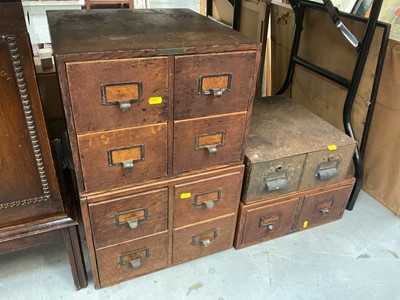
[[290, 2], [291, 2], [293, 10], [295, 12], [296, 28], [294, 31], [292, 50], [290, 53], [289, 67], [288, 67], [288, 71], [286, 74], [285, 82], [282, 84], [282, 87], [276, 93], [277, 95], [283, 94], [289, 88], [290, 83], [292, 82], [293, 75], [294, 75], [294, 68], [296, 65], [294, 57], [297, 56], [297, 52], [299, 50], [301, 32], [303, 31], [304, 7], [300, 6], [300, 4], [298, 4], [297, 1], [294, 1], [297, 3], [296, 5], [292, 4], [293, 1], [290, 1]]

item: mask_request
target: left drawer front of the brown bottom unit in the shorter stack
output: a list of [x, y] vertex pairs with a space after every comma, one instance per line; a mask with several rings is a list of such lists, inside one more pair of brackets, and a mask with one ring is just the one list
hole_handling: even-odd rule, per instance
[[299, 198], [294, 198], [248, 210], [241, 243], [254, 244], [287, 234], [292, 228], [298, 203]]

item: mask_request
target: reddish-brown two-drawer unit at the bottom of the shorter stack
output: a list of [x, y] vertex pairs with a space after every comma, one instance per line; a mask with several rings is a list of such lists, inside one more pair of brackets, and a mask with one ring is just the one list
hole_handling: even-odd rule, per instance
[[[354, 178], [349, 178], [339, 183], [278, 195], [250, 204], [241, 202], [234, 242], [235, 248], [245, 248], [301, 229], [340, 219], [354, 182]], [[332, 203], [332, 199], [333, 209], [331, 208], [331, 212], [324, 216], [320, 216], [321, 212], [314, 213], [315, 207], [322, 210], [325, 208], [324, 205]], [[262, 217], [265, 217], [262, 224], [273, 223], [279, 219], [282, 221], [276, 225], [273, 224], [272, 230], [268, 227], [260, 228]], [[307, 223], [304, 223], [305, 221]]]

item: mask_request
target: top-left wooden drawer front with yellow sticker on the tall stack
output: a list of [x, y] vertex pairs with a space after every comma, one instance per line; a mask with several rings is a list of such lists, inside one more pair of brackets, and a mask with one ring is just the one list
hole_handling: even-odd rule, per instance
[[168, 119], [166, 57], [67, 63], [78, 133]]

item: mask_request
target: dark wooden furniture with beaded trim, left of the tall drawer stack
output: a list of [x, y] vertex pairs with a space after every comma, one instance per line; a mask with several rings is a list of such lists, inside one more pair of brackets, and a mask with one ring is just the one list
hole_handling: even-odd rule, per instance
[[50, 151], [22, 5], [0, 2], [0, 253], [63, 236], [77, 289], [87, 286], [72, 201]]

